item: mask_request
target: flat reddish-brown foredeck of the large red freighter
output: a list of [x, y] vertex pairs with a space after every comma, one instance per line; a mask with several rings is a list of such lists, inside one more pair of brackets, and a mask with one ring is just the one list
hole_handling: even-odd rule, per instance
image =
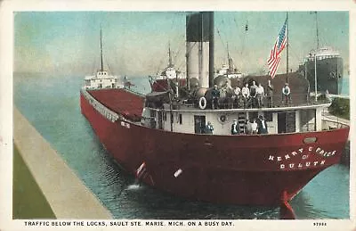
[[88, 90], [90, 95], [128, 120], [141, 120], [144, 96], [128, 92], [123, 88], [109, 88], [100, 90]]

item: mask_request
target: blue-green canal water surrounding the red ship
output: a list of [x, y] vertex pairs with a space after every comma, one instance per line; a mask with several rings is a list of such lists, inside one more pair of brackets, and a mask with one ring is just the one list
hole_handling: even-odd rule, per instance
[[[82, 79], [15, 76], [14, 104], [114, 218], [279, 219], [278, 208], [191, 202], [137, 185], [134, 177], [117, 168], [81, 114]], [[146, 78], [131, 80], [134, 88], [150, 91]], [[298, 219], [348, 219], [349, 169], [343, 165], [326, 169], [295, 196], [291, 205]]]

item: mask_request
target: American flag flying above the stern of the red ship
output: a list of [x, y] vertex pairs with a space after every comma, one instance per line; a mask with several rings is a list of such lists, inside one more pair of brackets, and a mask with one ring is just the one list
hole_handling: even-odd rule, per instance
[[283, 51], [287, 44], [287, 19], [284, 22], [282, 29], [279, 31], [279, 37], [271, 50], [270, 58], [268, 59], [268, 67], [270, 69], [270, 76], [274, 78], [280, 62], [280, 53]]

